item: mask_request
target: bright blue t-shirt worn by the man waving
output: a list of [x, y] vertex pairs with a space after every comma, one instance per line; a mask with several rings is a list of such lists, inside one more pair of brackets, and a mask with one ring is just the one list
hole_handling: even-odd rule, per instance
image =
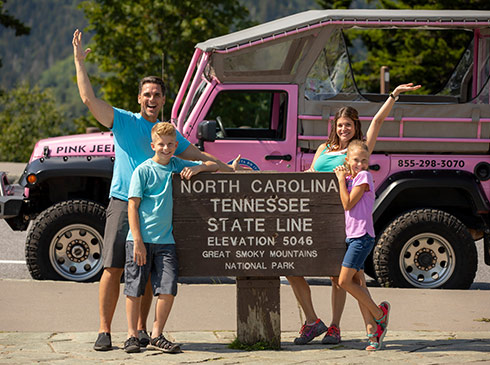
[[[128, 200], [128, 189], [134, 169], [155, 153], [151, 149], [151, 128], [155, 123], [147, 121], [139, 113], [114, 109], [114, 149], [116, 160], [112, 174], [110, 197]], [[158, 121], [157, 121], [158, 122]], [[175, 155], [189, 147], [190, 142], [177, 131], [179, 145]]]

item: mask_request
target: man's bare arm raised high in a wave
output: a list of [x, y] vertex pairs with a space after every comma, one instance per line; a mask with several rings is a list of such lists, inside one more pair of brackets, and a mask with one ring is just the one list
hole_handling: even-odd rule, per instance
[[82, 32], [78, 29], [73, 33], [73, 58], [77, 71], [77, 85], [80, 98], [89, 108], [90, 112], [97, 121], [107, 128], [112, 128], [114, 122], [114, 109], [102, 99], [95, 96], [94, 89], [90, 83], [87, 69], [85, 68], [85, 58], [91, 49], [83, 49]]

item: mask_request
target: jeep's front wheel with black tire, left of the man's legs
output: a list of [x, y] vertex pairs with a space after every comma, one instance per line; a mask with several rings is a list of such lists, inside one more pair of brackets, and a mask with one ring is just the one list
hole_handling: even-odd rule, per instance
[[63, 201], [41, 212], [27, 234], [26, 262], [38, 280], [96, 281], [102, 274], [105, 208]]

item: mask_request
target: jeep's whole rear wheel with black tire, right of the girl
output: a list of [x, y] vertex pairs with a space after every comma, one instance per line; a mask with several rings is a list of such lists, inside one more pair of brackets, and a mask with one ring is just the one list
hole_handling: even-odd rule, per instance
[[409, 211], [391, 223], [375, 246], [381, 286], [467, 289], [477, 270], [477, 252], [466, 226], [436, 209]]

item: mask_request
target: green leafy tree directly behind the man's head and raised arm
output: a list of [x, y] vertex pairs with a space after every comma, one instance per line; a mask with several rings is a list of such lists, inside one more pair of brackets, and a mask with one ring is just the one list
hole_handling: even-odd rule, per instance
[[82, 9], [94, 31], [88, 61], [98, 63], [104, 99], [137, 110], [139, 79], [161, 75], [168, 85], [165, 115], [184, 78], [196, 43], [245, 25], [238, 0], [93, 0]]

